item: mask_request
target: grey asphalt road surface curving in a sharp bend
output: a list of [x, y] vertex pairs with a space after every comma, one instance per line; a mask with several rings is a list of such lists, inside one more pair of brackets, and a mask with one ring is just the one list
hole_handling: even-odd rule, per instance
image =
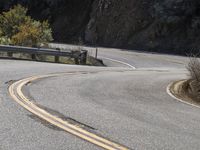
[[99, 49], [99, 57], [111, 67], [0, 60], [0, 150], [100, 149], [45, 123], [10, 98], [7, 88], [14, 80], [56, 72], [76, 73], [24, 89], [51, 113], [132, 149], [200, 149], [200, 110], [166, 93], [170, 82], [187, 77], [187, 58], [114, 49]]

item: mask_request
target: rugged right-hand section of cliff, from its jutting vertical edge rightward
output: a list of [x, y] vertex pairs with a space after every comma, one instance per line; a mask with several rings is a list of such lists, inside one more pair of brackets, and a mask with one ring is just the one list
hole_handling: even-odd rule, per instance
[[174, 53], [200, 48], [197, 0], [96, 0], [85, 40]]

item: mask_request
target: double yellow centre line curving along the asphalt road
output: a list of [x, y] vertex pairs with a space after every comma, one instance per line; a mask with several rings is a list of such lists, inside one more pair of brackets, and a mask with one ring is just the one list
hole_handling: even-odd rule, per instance
[[[37, 115], [38, 117], [48, 121], [49, 123], [65, 130], [73, 135], [76, 135], [76, 136], [78, 136], [86, 141], [89, 141], [97, 146], [100, 146], [104, 149], [127, 150], [128, 148], [125, 146], [122, 146], [120, 144], [117, 144], [115, 142], [107, 140], [96, 134], [88, 132], [80, 127], [77, 127], [67, 121], [64, 121], [61, 118], [51, 115], [47, 111], [39, 108], [37, 105], [32, 103], [28, 98], [25, 97], [25, 95], [22, 92], [23, 86], [29, 82], [32, 82], [37, 79], [42, 79], [42, 78], [46, 78], [46, 77], [54, 77], [54, 76], [59, 76], [59, 75], [63, 75], [63, 74], [67, 74], [67, 73], [34, 76], [34, 77], [22, 79], [20, 81], [15, 82], [14, 84], [12, 84], [9, 87], [9, 93], [17, 103], [19, 103], [21, 106], [26, 108], [28, 111], [32, 112], [33, 114]], [[73, 74], [73, 73], [68, 73], [68, 74]]]

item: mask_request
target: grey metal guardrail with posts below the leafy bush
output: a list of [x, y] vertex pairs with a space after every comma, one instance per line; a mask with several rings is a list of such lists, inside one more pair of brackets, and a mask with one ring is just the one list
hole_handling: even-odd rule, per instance
[[86, 64], [87, 61], [86, 50], [63, 51], [60, 49], [0, 45], [0, 51], [7, 52], [9, 57], [12, 57], [13, 53], [28, 53], [31, 54], [31, 57], [34, 60], [36, 59], [36, 55], [50, 55], [50, 56], [55, 56], [56, 62], [59, 62], [59, 56], [74, 58], [76, 64]]

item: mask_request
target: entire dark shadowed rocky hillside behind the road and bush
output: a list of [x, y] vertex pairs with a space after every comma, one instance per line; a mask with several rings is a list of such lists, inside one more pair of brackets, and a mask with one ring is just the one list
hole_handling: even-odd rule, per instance
[[[2, 1], [3, 2], [3, 1]], [[12, 0], [36, 19], [49, 19], [54, 39], [147, 51], [200, 48], [199, 0]], [[3, 7], [2, 7], [3, 6]]]

